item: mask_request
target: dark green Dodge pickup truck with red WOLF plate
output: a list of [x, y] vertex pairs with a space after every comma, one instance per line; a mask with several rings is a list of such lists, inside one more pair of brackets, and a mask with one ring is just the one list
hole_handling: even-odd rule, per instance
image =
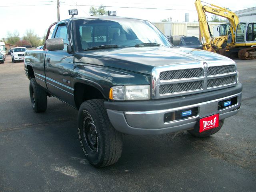
[[91, 16], [50, 28], [44, 49], [24, 55], [32, 108], [45, 112], [54, 96], [78, 109], [79, 142], [95, 167], [118, 161], [123, 134], [206, 137], [240, 109], [233, 60], [174, 47], [146, 20]]

